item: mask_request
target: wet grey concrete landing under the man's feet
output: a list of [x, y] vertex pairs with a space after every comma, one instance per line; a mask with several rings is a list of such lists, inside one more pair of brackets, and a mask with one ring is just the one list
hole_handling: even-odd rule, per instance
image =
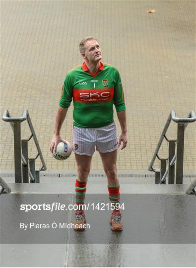
[[[67, 228], [24, 231], [20, 222], [73, 222], [73, 210], [19, 209], [21, 203], [73, 204], [73, 195], [59, 195], [73, 193], [73, 184], [10, 186], [12, 194], [0, 196], [2, 267], [195, 267], [196, 199], [184, 195], [185, 185], [123, 184], [122, 192], [131, 194], [122, 195], [126, 209], [121, 233], [111, 231], [110, 211], [92, 209], [86, 211], [90, 228], [84, 232]], [[86, 202], [108, 200], [108, 195], [99, 194], [107, 192], [105, 183], [89, 183], [88, 189], [97, 195], [87, 194]]]

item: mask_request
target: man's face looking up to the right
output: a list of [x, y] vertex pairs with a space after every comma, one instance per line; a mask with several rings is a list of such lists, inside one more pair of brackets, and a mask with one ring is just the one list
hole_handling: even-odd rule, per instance
[[96, 40], [88, 40], [85, 44], [85, 52], [81, 53], [82, 57], [89, 62], [98, 62], [102, 59], [101, 49]]

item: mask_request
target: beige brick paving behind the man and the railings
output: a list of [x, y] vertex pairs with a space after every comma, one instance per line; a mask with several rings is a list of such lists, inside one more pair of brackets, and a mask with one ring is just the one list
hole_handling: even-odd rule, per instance
[[[74, 155], [55, 160], [49, 151], [66, 72], [82, 63], [79, 41], [98, 38], [103, 62], [117, 67], [124, 84], [128, 145], [118, 169], [147, 170], [170, 111], [195, 109], [195, 1], [0, 1], [0, 110], [28, 109], [48, 169], [75, 169]], [[146, 11], [155, 9], [155, 13]], [[115, 114], [120, 133], [120, 125]], [[13, 133], [0, 121], [1, 168], [13, 169]], [[172, 123], [169, 137], [176, 137]], [[185, 134], [185, 170], [195, 170], [196, 125]], [[29, 131], [22, 123], [22, 137]], [[72, 140], [72, 105], [62, 128]], [[160, 155], [166, 156], [164, 143]], [[35, 156], [33, 142], [30, 156]], [[37, 161], [39, 166], [39, 161]], [[92, 169], [102, 169], [94, 153]]]

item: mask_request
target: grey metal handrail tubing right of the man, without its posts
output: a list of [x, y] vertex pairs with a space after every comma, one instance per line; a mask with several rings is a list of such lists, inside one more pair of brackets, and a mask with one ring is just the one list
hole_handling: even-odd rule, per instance
[[[176, 123], [186, 123], [186, 124], [185, 124], [185, 128], [186, 128], [186, 127], [188, 126], [189, 123], [192, 123], [192, 122], [195, 122], [195, 121], [196, 121], [196, 112], [192, 110], [192, 111], [189, 113], [188, 118], [178, 118], [178, 117], [176, 117], [176, 113], [175, 113], [174, 110], [172, 110], [172, 111], [170, 112], [169, 117], [168, 117], [168, 119], [167, 119], [167, 122], [166, 122], [166, 124], [165, 124], [165, 127], [164, 127], [164, 129], [163, 129], [163, 131], [162, 131], [162, 134], [161, 134], [161, 136], [160, 136], [159, 142], [158, 142], [158, 144], [157, 144], [157, 147], [156, 147], [156, 149], [155, 149], [155, 152], [154, 152], [154, 154], [153, 154], [152, 160], [151, 160], [151, 162], [150, 162], [150, 165], [149, 165], [149, 168], [148, 168], [149, 171], [154, 171], [154, 172], [156, 171], [156, 170], [153, 168], [153, 164], [154, 164], [154, 161], [155, 161], [156, 157], [158, 157], [158, 152], [159, 152], [159, 149], [160, 149], [161, 144], [162, 144], [162, 142], [163, 142], [163, 139], [166, 138], [165, 134], [166, 134], [166, 132], [167, 132], [167, 130], [168, 130], [168, 128], [169, 128], [169, 125], [170, 125], [171, 121], [174, 121], [174, 122], [176, 122]], [[176, 142], [176, 143], [177, 143], [177, 142]], [[172, 165], [174, 164], [175, 159], [176, 159], [176, 154], [175, 154], [175, 156], [174, 156], [174, 158], [173, 158], [173, 160], [172, 160], [172, 162], [171, 162]], [[170, 163], [170, 165], [171, 165], [171, 163]], [[166, 172], [168, 172], [168, 169], [167, 169]], [[164, 179], [165, 179], [166, 176], [167, 176], [167, 174], [166, 174], [166, 175], [164, 174]], [[162, 178], [162, 179], [163, 179], [163, 178]]]

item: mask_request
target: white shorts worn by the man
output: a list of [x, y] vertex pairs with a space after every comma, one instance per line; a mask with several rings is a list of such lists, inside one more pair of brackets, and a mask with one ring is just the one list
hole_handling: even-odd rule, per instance
[[103, 128], [85, 129], [73, 126], [73, 148], [77, 154], [92, 156], [96, 150], [112, 152], [119, 147], [115, 122]]

